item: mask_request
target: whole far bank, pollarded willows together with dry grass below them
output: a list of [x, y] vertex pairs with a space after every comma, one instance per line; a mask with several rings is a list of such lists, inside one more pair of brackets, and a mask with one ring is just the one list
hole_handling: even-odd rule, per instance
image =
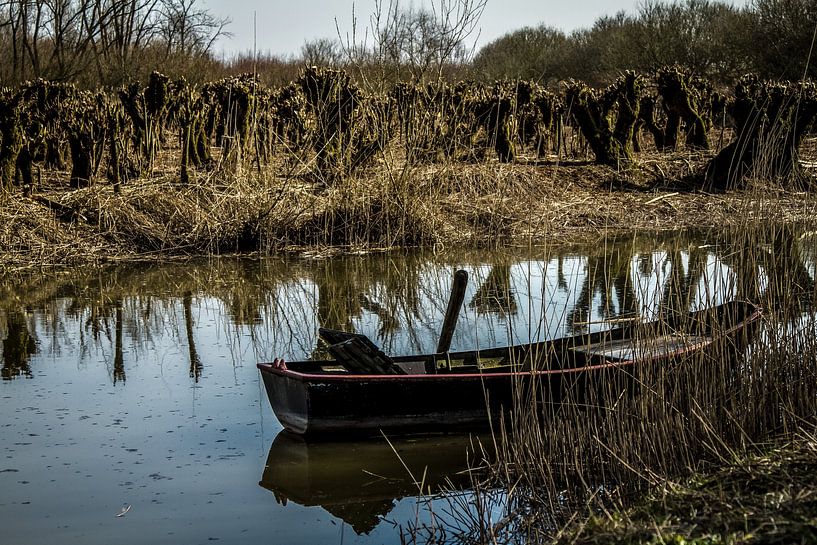
[[527, 245], [814, 215], [817, 90], [679, 67], [605, 88], [304, 68], [0, 96], [7, 266], [304, 246]]

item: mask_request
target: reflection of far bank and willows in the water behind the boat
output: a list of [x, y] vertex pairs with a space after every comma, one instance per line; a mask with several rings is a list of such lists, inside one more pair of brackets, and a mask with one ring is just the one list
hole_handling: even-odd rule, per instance
[[[114, 383], [126, 358], [171, 334], [186, 347], [190, 378], [206, 371], [196, 346], [202, 313], [220, 317], [237, 350], [256, 359], [303, 359], [319, 351], [318, 327], [356, 330], [385, 351], [433, 351], [454, 269], [469, 271], [469, 304], [453, 348], [516, 344], [653, 319], [735, 297], [758, 300], [769, 285], [815, 289], [814, 238], [791, 228], [705, 237], [631, 236], [583, 251], [529, 250], [510, 257], [374, 254], [335, 259], [215, 259], [113, 266], [0, 284], [3, 378], [31, 376], [37, 340], [51, 351], [79, 346], [110, 354]], [[736, 249], [737, 248], [737, 249]], [[250, 345], [241, 344], [249, 337]], [[233, 342], [233, 341], [230, 341]], [[129, 364], [128, 364], [129, 365]]]

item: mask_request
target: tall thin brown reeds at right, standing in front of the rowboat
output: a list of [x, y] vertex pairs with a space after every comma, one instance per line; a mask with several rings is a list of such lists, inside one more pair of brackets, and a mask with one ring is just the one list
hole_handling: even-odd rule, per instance
[[[693, 281], [685, 282], [683, 274], [667, 280], [660, 295], [664, 315], [718, 297], [761, 305], [762, 326], [745, 348], [721, 343], [672, 367], [636, 367], [626, 380], [602, 377], [595, 388], [569, 392], [558, 405], [536, 403], [536, 392], [520, 387], [513, 413], [495, 428], [498, 461], [480, 484], [483, 490], [504, 491], [502, 515], [474, 517], [467, 525], [471, 532], [481, 529], [474, 542], [575, 537], [589, 517], [619, 520], [627, 506], [659, 485], [715, 467], [740, 466], [769, 445], [812, 433], [817, 426], [817, 284], [813, 255], [801, 253], [802, 233], [780, 224], [727, 230], [712, 243], [721, 263], [734, 272], [727, 285], [723, 278], [699, 276], [700, 270], [692, 274], [692, 253], [687, 265]], [[673, 272], [683, 270], [681, 265], [672, 262]], [[591, 267], [588, 275], [593, 274], [602, 276], [603, 291], [620, 271], [610, 275], [609, 269], [594, 272]], [[615, 289], [622, 290], [622, 284]], [[589, 295], [592, 304], [596, 290]], [[639, 295], [640, 301], [649, 298]], [[668, 326], [658, 330], [664, 327], [670, 331]], [[721, 531], [702, 531], [710, 530]]]

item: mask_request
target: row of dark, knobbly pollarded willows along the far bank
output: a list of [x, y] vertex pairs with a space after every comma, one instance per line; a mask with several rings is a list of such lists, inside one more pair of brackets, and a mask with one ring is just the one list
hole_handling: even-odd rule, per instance
[[116, 190], [149, 177], [163, 153], [176, 154], [181, 183], [216, 166], [262, 170], [278, 160], [332, 184], [377, 157], [474, 162], [490, 150], [514, 162], [589, 148], [597, 163], [620, 167], [643, 148], [709, 150], [720, 125], [734, 140], [696, 181], [731, 189], [750, 177], [802, 182], [797, 149], [815, 118], [813, 83], [746, 76], [722, 93], [677, 66], [627, 72], [606, 89], [569, 81], [560, 92], [508, 80], [398, 83], [374, 94], [317, 67], [277, 89], [252, 75], [196, 86], [155, 72], [115, 93], [38, 80], [0, 93], [0, 185], [30, 190], [35, 173], [70, 163], [70, 187], [104, 178]]

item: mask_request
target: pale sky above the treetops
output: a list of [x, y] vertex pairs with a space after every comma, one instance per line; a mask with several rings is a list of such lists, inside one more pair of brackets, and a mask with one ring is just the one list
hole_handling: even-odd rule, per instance
[[[389, 0], [383, 0], [388, 5]], [[456, 0], [400, 0], [401, 7], [440, 5]], [[729, 3], [745, 5], [751, 0]], [[216, 44], [216, 53], [225, 57], [253, 50], [253, 36], [260, 53], [279, 56], [297, 55], [306, 41], [316, 38], [337, 39], [351, 34], [352, 10], [357, 18], [360, 36], [369, 26], [376, 0], [199, 0], [202, 8], [218, 17], [229, 17], [227, 29], [232, 38]], [[544, 23], [567, 32], [592, 26], [602, 15], [624, 10], [633, 13], [642, 0], [487, 0], [478, 25], [478, 34], [468, 45], [477, 48], [524, 26]], [[255, 25], [253, 25], [255, 18]], [[255, 26], [255, 33], [253, 28]]]

